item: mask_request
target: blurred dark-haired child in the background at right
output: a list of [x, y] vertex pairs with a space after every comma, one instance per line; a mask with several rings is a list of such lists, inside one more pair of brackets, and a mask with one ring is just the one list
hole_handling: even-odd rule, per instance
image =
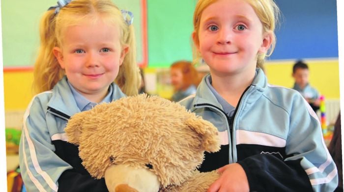
[[292, 69], [292, 77], [295, 79], [294, 87], [292, 89], [300, 92], [316, 112], [320, 105], [319, 93], [309, 84], [309, 69], [307, 64], [302, 60], [297, 61]]

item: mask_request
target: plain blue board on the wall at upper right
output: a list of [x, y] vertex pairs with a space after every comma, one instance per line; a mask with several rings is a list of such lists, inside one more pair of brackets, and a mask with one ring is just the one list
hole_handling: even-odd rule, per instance
[[336, 0], [275, 0], [282, 15], [271, 59], [338, 58]]

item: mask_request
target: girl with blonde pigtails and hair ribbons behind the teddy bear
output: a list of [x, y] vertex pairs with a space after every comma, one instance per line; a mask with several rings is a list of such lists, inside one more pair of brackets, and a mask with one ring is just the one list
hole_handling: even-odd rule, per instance
[[27, 191], [107, 192], [104, 179], [83, 167], [78, 146], [67, 143], [64, 127], [78, 112], [138, 93], [133, 16], [111, 0], [57, 3], [41, 19], [37, 95], [20, 142], [22, 177]]

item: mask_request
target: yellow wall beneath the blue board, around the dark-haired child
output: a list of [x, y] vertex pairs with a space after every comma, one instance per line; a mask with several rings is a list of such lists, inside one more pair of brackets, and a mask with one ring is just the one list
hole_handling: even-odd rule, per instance
[[[265, 71], [270, 84], [292, 87], [291, 76], [295, 61], [267, 62]], [[339, 63], [337, 60], [305, 60], [310, 70], [310, 84], [325, 98], [340, 98]]]

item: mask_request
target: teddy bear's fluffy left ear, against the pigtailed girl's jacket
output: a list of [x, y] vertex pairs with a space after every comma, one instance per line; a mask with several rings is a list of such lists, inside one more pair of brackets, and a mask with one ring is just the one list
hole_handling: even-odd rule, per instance
[[68, 142], [72, 144], [79, 144], [79, 138], [82, 133], [83, 123], [89, 111], [77, 113], [68, 120], [67, 126], [64, 128]]

